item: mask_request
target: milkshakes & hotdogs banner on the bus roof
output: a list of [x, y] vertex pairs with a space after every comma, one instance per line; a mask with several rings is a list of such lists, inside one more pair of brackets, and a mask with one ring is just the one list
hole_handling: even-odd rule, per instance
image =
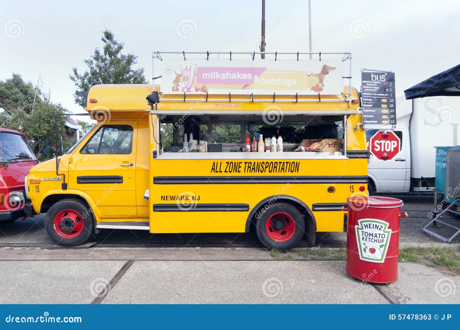
[[343, 92], [340, 60], [163, 59], [165, 94], [338, 95]]

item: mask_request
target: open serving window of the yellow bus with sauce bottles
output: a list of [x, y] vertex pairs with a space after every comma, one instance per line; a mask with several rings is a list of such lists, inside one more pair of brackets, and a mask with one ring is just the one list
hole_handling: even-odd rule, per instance
[[[251, 155], [261, 158], [345, 156], [344, 120], [346, 115], [296, 114], [277, 118], [257, 114], [159, 115], [159, 156], [163, 154], [162, 158], [175, 159]], [[259, 145], [261, 135], [264, 151], [256, 155], [252, 143], [255, 140]], [[250, 152], [245, 151], [246, 136], [251, 143]], [[281, 137], [282, 152], [279, 147], [277, 151], [265, 150], [265, 139], [272, 137], [277, 142]]]

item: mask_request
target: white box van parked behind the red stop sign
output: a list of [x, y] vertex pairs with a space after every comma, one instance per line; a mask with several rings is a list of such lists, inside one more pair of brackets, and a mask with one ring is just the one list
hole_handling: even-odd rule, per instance
[[[391, 160], [369, 159], [369, 194], [432, 193], [435, 174], [434, 146], [459, 144], [459, 97], [397, 97], [400, 152]], [[459, 116], [460, 117], [460, 116]], [[369, 140], [377, 130], [366, 130]]]

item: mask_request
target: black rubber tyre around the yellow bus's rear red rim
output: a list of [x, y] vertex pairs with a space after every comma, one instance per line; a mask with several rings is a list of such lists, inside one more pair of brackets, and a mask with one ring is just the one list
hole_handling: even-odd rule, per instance
[[[260, 216], [256, 222], [256, 233], [257, 237], [259, 237], [259, 240], [262, 242], [263, 245], [265, 245], [269, 249], [276, 248], [278, 250], [289, 250], [299, 244], [305, 233], [305, 220], [302, 213], [295, 206], [287, 203], [276, 203], [271, 205], [270, 207], [267, 207], [266, 209], [265, 207], [263, 207], [261, 210], [262, 211], [258, 213], [260, 214]], [[288, 216], [276, 216], [276, 214], [280, 213], [285, 213]], [[278, 217], [280, 217], [280, 219], [278, 219]], [[286, 226], [293, 226], [290, 223], [288, 223], [292, 219], [295, 223], [295, 227], [292, 229], [292, 237], [283, 242], [274, 240], [272, 238], [273, 232], [267, 233], [267, 226], [271, 228], [270, 224], [267, 224], [270, 218], [272, 221], [270, 224], [273, 224], [273, 222], [281, 223], [281, 227], [279, 227], [278, 231], [280, 232], [281, 239], [284, 239], [282, 236], [287, 234], [282, 234], [283, 229], [286, 229]], [[282, 224], [282, 222], [284, 222], [284, 224]]]

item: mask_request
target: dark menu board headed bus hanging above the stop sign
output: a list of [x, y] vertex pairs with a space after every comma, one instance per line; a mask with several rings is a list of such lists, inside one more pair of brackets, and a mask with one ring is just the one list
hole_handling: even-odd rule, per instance
[[395, 91], [393, 72], [361, 73], [362, 123], [364, 125], [396, 125]]

